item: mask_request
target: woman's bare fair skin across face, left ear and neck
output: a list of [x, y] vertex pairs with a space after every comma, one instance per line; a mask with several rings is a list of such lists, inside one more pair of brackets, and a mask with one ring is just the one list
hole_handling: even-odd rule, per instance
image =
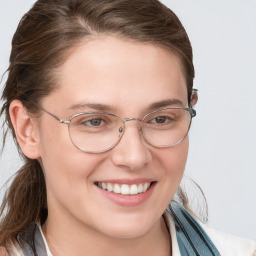
[[[107, 112], [122, 118], [142, 117], [152, 111], [150, 105], [166, 100], [180, 103], [162, 107], [188, 104], [176, 56], [152, 44], [115, 37], [76, 46], [58, 73], [58, 84], [42, 106], [64, 120], [99, 110], [71, 109], [78, 103], [108, 105]], [[44, 112], [38, 122], [13, 101], [10, 114], [23, 153], [43, 166], [49, 211], [43, 231], [54, 256], [171, 255], [162, 214], [182, 179], [188, 138], [175, 147], [155, 148], [143, 140], [139, 122], [131, 121], [115, 148], [90, 154], [74, 147], [67, 125]], [[145, 200], [125, 205], [95, 185], [113, 180], [119, 184], [149, 180], [154, 186]]]

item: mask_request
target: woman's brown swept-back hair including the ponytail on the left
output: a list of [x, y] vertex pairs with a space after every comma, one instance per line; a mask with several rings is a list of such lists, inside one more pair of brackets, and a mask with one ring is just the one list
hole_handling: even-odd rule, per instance
[[[2, 95], [0, 114], [5, 115], [5, 135], [11, 130], [18, 148], [9, 115], [10, 103], [18, 99], [29, 113], [39, 113], [38, 105], [55, 89], [56, 72], [69, 50], [86, 38], [102, 35], [156, 44], [176, 54], [184, 68], [190, 102], [194, 78], [191, 44], [177, 16], [159, 1], [38, 0], [14, 34]], [[37, 160], [22, 156], [25, 164], [17, 172], [0, 209], [4, 215], [0, 246], [15, 240], [30, 222], [47, 217], [41, 166]]]

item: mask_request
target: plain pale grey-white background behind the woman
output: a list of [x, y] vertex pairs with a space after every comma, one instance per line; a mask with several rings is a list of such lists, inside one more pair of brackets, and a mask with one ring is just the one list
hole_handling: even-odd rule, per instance
[[[17, 24], [33, 2], [0, 0], [0, 74]], [[256, 239], [256, 1], [162, 2], [181, 19], [194, 49], [199, 102], [186, 175], [207, 197], [211, 226]], [[20, 165], [8, 138], [0, 186]]]

